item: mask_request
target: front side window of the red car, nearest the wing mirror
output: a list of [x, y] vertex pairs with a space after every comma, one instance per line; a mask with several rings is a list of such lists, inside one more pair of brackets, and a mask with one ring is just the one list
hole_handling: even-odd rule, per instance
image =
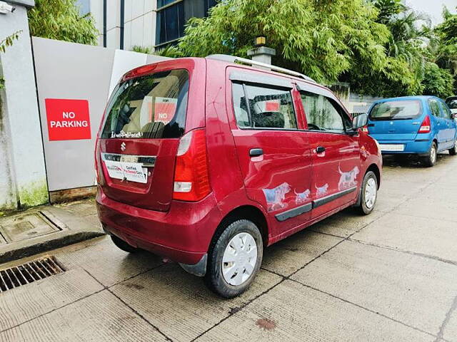
[[342, 109], [323, 95], [301, 92], [301, 102], [308, 122], [308, 130], [343, 133], [351, 127], [351, 121]]

